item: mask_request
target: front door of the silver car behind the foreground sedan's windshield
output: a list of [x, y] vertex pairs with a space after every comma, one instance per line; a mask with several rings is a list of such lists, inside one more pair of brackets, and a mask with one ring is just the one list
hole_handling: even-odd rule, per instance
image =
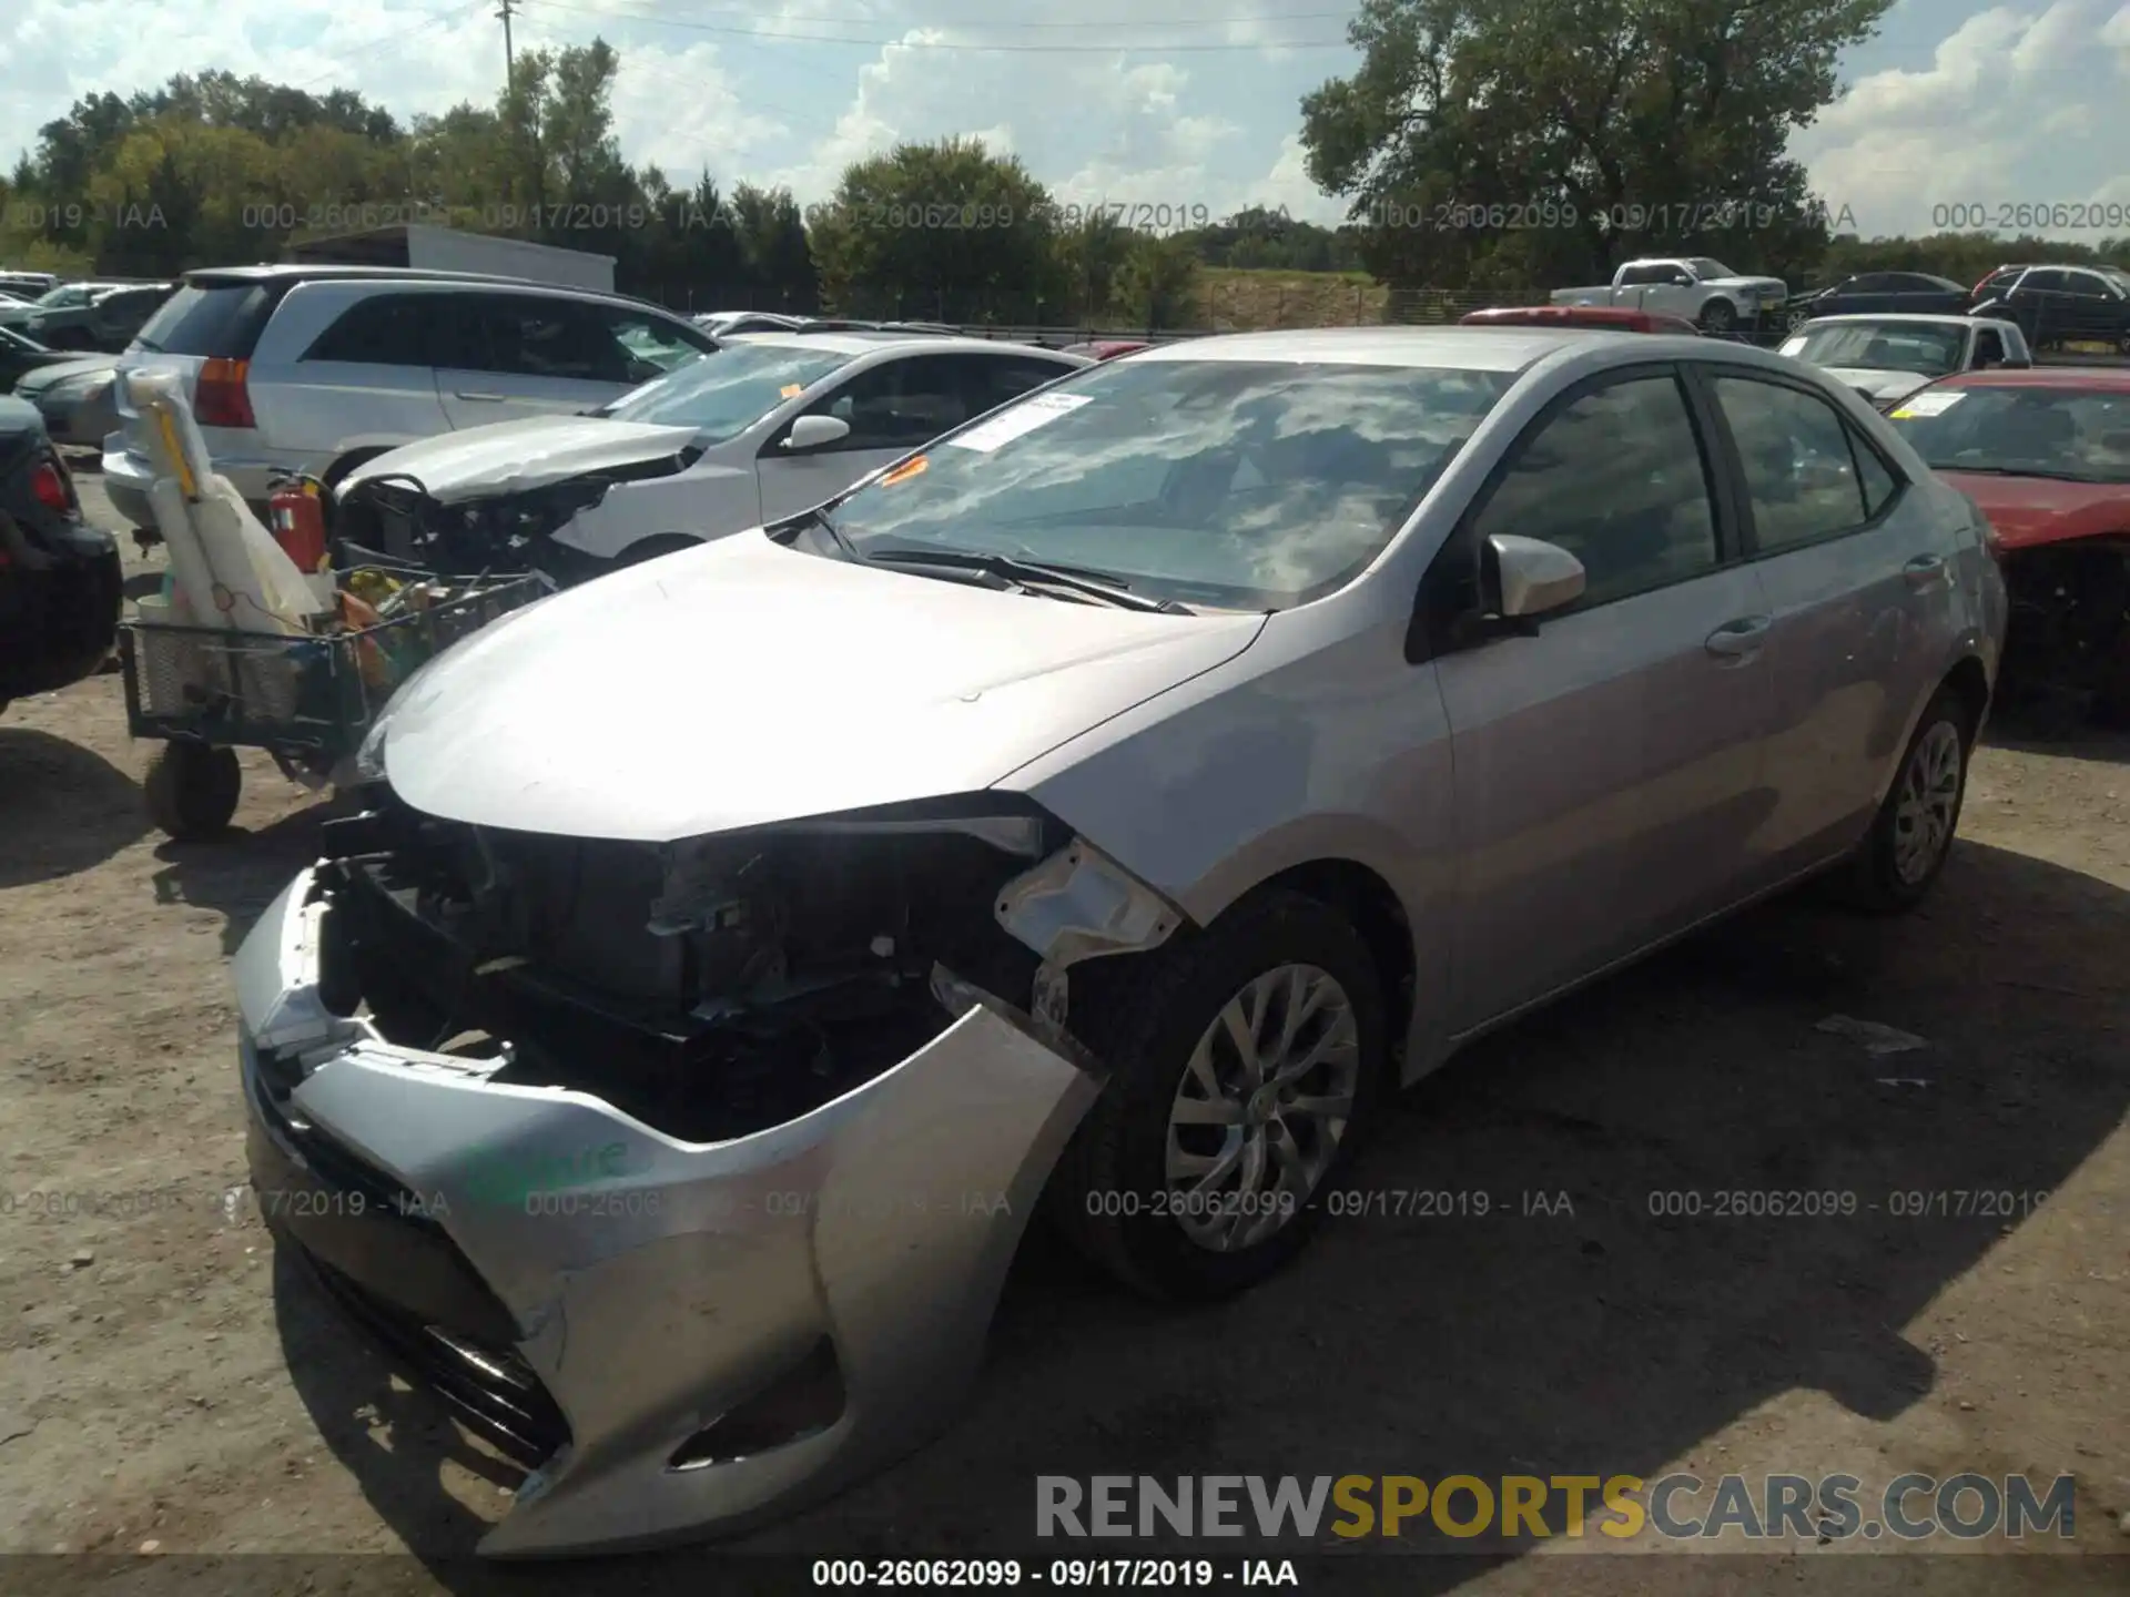
[[895, 356], [807, 405], [805, 415], [848, 422], [850, 437], [794, 456], [784, 447], [790, 428], [773, 432], [758, 464], [763, 522], [812, 509], [980, 413], [969, 407], [984, 377], [969, 362], [969, 356]]

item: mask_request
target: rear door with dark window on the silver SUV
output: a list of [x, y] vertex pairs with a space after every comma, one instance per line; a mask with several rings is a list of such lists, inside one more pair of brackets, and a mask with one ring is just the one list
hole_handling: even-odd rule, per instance
[[513, 290], [447, 298], [454, 336], [437, 362], [437, 396], [454, 428], [579, 415], [645, 381], [592, 300]]

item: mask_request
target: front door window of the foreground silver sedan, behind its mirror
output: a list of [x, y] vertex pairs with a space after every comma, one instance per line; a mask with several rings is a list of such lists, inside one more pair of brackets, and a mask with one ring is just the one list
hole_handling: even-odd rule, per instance
[[1715, 500], [1678, 379], [1591, 390], [1517, 445], [1476, 522], [1583, 562], [1578, 609], [1715, 571]]

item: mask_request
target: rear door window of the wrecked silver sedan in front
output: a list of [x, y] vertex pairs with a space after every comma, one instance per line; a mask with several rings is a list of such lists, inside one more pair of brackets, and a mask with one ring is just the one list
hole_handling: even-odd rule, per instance
[[1849, 428], [1832, 405], [1757, 377], [1717, 377], [1713, 388], [1744, 464], [1753, 541], [1764, 554], [1868, 520]]

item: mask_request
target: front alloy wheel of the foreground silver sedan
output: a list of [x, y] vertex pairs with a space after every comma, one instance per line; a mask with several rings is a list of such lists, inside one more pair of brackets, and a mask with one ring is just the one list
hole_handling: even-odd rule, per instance
[[1214, 1252], [1255, 1248], [1310, 1203], [1353, 1118], [1353, 999], [1314, 965], [1280, 965], [1229, 999], [1169, 1105], [1167, 1209]]

